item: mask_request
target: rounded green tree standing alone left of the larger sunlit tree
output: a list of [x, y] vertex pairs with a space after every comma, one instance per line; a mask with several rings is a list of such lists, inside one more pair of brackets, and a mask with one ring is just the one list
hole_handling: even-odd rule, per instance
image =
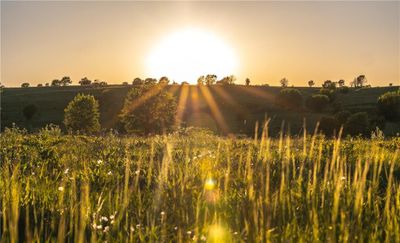
[[70, 132], [98, 132], [99, 117], [99, 103], [93, 95], [78, 94], [64, 110], [64, 124]]

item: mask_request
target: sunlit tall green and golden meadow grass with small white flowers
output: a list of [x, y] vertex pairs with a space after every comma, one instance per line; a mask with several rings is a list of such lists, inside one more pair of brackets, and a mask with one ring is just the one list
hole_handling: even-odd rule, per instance
[[400, 239], [400, 138], [1, 135], [2, 241]]

